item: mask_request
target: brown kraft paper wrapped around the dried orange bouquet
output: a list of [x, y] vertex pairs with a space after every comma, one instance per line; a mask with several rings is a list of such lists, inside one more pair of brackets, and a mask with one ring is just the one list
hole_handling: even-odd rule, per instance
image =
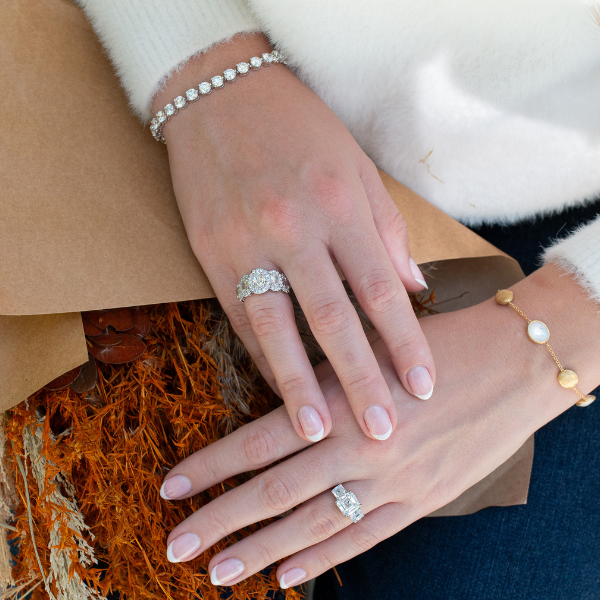
[[[81, 11], [63, 0], [10, 0], [0, 30], [5, 410], [85, 362], [79, 312], [214, 294], [185, 235], [166, 148], [132, 116]], [[435, 263], [427, 277], [438, 302], [454, 298], [445, 310], [523, 277], [513, 259], [381, 177], [408, 223], [412, 256]], [[533, 438], [436, 514], [525, 503], [532, 459]]]

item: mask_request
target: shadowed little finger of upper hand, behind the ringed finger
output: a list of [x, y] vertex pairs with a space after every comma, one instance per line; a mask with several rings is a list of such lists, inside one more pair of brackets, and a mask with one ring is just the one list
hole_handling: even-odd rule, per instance
[[227, 314], [235, 333], [240, 338], [240, 341], [271, 389], [281, 397], [281, 392], [277, 388], [275, 375], [254, 335], [244, 304], [237, 299], [235, 294], [236, 286], [239, 282], [237, 274], [232, 269], [219, 264], [208, 265], [205, 267], [205, 271], [217, 296], [217, 300]]

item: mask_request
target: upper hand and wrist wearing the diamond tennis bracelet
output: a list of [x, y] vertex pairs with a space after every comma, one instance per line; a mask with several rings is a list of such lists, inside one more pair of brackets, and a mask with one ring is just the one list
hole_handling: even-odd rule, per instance
[[[217, 46], [171, 77], [154, 99], [154, 112], [270, 50], [260, 34]], [[406, 293], [424, 287], [406, 224], [373, 162], [289, 69], [263, 67], [225, 88], [181, 111], [163, 130], [192, 249], [300, 437], [327, 435], [331, 416], [290, 298], [267, 292], [238, 301], [237, 283], [255, 268], [287, 275], [359, 426], [373, 439], [387, 439], [396, 409], [333, 261], [381, 335], [402, 385], [428, 398], [435, 366]]]

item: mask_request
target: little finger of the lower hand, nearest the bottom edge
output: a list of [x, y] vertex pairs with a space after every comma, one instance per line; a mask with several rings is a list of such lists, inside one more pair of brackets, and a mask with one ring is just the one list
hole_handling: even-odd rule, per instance
[[418, 515], [399, 503], [384, 504], [358, 523], [346, 527], [310, 548], [298, 552], [277, 569], [282, 588], [313, 579], [408, 527]]

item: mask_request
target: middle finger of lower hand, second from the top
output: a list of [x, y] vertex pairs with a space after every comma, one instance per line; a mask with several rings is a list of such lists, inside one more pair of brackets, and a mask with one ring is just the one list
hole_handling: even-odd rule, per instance
[[[323, 444], [331, 443], [324, 440]], [[222, 494], [180, 523], [167, 540], [171, 562], [190, 560], [247, 525], [276, 517], [334, 487], [350, 469], [331, 458], [323, 468], [323, 446], [308, 448], [250, 481]]]

